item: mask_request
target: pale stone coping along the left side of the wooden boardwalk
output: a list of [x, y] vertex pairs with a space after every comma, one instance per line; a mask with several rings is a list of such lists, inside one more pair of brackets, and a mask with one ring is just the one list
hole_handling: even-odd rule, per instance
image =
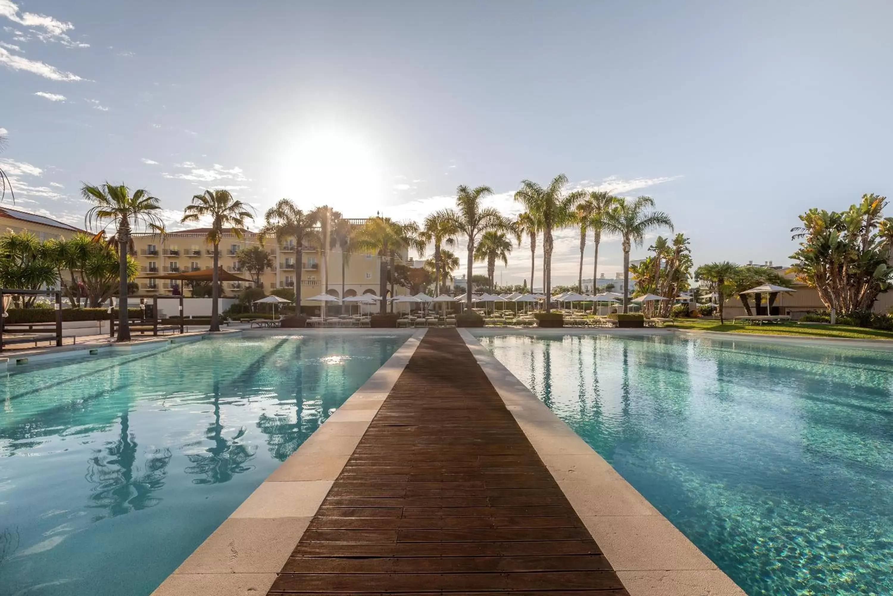
[[[284, 331], [304, 334], [310, 330]], [[426, 331], [414, 331], [152, 592], [153, 596], [266, 594]]]

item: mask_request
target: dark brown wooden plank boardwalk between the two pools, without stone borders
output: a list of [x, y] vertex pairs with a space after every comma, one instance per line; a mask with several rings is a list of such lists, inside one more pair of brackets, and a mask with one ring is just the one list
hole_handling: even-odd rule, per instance
[[453, 329], [430, 329], [270, 594], [628, 596]]

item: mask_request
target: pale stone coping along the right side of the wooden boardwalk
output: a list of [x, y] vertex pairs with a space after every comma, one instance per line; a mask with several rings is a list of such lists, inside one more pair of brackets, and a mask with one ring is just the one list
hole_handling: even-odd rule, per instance
[[630, 596], [745, 596], [471, 332], [459, 334]]

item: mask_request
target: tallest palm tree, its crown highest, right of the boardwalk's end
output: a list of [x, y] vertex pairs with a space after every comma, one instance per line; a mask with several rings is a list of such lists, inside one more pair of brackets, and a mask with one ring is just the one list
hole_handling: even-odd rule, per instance
[[571, 225], [575, 220], [576, 206], [588, 196], [585, 190], [566, 192], [567, 176], [558, 174], [544, 189], [536, 182], [522, 180], [522, 188], [514, 193], [514, 200], [521, 203], [527, 213], [539, 222], [543, 231], [543, 293], [546, 294], [546, 312], [551, 309], [552, 296], [552, 231]]

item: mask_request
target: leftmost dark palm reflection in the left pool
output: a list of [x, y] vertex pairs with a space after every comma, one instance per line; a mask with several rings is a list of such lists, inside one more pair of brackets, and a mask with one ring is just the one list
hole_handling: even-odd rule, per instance
[[162, 499], [154, 492], [164, 485], [170, 449], [155, 449], [146, 457], [146, 469], [140, 474], [137, 463], [137, 439], [129, 430], [129, 411], [121, 414], [118, 440], [98, 449], [89, 459], [86, 478], [94, 486], [90, 490], [91, 508], [105, 509], [93, 519], [121, 516], [130, 511], [154, 507]]

